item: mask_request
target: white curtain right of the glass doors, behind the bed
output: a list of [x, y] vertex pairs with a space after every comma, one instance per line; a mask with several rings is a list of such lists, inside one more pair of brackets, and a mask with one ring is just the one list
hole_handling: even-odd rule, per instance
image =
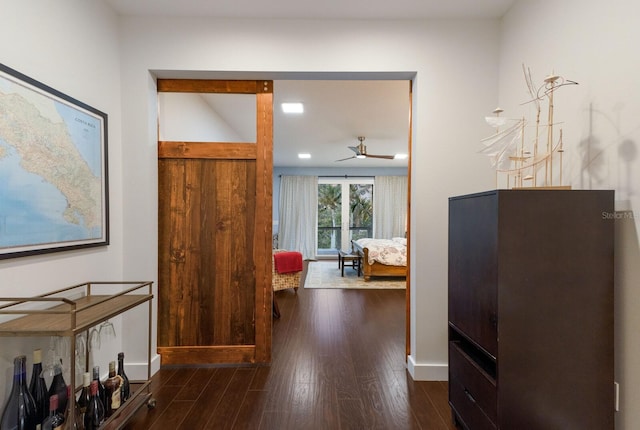
[[373, 237], [405, 237], [407, 231], [406, 176], [376, 176], [373, 190]]

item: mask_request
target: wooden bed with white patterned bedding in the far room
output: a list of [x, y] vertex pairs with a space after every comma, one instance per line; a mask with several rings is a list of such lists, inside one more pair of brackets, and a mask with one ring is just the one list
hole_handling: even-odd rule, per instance
[[407, 276], [407, 240], [364, 238], [351, 241], [354, 254], [362, 258], [365, 282], [372, 276]]

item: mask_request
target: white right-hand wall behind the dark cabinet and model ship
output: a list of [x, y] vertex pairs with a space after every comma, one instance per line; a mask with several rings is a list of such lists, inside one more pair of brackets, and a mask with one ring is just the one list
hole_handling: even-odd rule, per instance
[[616, 191], [617, 429], [640, 423], [639, 24], [635, 0], [523, 0], [504, 19], [500, 48], [499, 104], [506, 115], [528, 113], [520, 105], [527, 100], [522, 63], [538, 80], [555, 72], [579, 83], [559, 90], [554, 103], [565, 174], [573, 188]]

